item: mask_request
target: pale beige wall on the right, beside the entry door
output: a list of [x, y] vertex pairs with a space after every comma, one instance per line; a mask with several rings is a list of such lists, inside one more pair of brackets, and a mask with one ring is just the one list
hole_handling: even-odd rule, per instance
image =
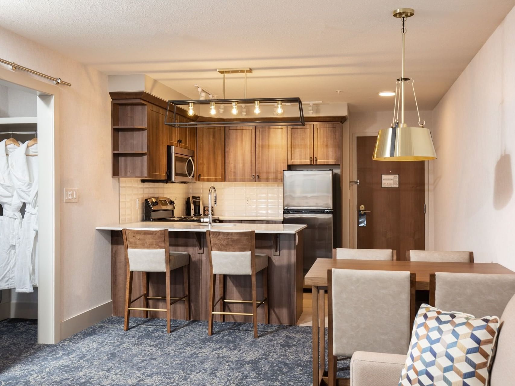
[[435, 249], [515, 270], [515, 9], [434, 110]]

